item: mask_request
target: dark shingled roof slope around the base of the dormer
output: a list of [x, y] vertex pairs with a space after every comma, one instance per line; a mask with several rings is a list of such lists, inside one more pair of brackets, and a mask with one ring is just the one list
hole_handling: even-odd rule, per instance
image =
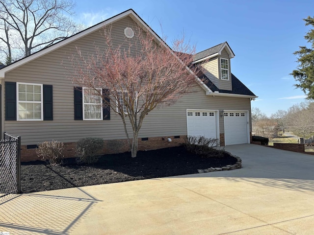
[[231, 73], [232, 81], [232, 91], [218, 89], [205, 75], [202, 74], [199, 78], [208, 86], [208, 88], [213, 92], [225, 93], [225, 94], [242, 94], [242, 95], [251, 95], [256, 96], [253, 92], [250, 91], [239, 79], [236, 78], [234, 74]]

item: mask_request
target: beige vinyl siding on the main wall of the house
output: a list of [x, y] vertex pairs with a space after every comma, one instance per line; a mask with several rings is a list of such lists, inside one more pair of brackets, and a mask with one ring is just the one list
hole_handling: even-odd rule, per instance
[[[133, 21], [129, 17], [113, 24], [111, 32], [116, 42], [125, 42], [124, 28], [130, 25], [133, 25]], [[91, 33], [7, 72], [5, 81], [52, 85], [53, 120], [4, 121], [4, 131], [21, 136], [22, 145], [51, 140], [73, 142], [84, 137], [99, 137], [104, 140], [126, 139], [122, 120], [113, 111], [110, 113], [110, 120], [74, 120], [75, 84], [69, 79], [71, 76], [69, 57], [76, 52], [75, 46], [86, 52], [93, 51], [95, 45], [100, 47], [104, 45], [104, 39], [100, 36], [100, 32]], [[217, 65], [217, 59], [215, 63]], [[217, 70], [215, 70], [216, 74]], [[4, 86], [4, 83], [2, 85]], [[186, 109], [250, 109], [248, 98], [206, 96], [201, 87], [198, 86], [197, 89], [197, 93], [184, 95], [172, 106], [150, 112], [144, 119], [139, 138], [186, 135]], [[2, 91], [5, 91], [5, 87]], [[223, 133], [222, 118], [219, 123], [220, 133]], [[128, 126], [128, 129], [131, 135], [131, 125]]]

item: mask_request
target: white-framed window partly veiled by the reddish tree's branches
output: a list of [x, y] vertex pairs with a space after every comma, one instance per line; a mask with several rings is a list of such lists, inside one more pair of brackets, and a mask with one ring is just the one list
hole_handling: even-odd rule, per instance
[[103, 119], [102, 89], [94, 90], [83, 87], [83, 120]]

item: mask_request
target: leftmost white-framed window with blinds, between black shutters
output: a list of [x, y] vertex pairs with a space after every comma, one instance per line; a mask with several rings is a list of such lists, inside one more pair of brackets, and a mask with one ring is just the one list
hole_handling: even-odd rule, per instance
[[17, 83], [17, 120], [43, 120], [43, 85]]

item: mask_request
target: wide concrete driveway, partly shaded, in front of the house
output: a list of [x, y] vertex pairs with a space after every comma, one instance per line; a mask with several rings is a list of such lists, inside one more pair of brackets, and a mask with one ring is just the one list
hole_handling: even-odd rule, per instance
[[314, 234], [313, 155], [253, 144], [226, 150], [242, 169], [17, 196], [0, 205], [0, 232]]

